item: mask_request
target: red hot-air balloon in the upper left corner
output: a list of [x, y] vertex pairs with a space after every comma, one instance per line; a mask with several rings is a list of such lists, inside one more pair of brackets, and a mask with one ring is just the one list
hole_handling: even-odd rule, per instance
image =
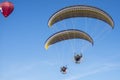
[[1, 13], [4, 17], [8, 17], [14, 10], [14, 5], [11, 2], [4, 1], [0, 4]]

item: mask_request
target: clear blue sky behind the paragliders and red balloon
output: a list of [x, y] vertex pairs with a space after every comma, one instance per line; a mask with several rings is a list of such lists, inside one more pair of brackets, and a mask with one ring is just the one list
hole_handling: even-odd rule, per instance
[[[1, 0], [2, 2], [3, 0]], [[120, 1], [117, 0], [9, 0], [13, 13], [0, 14], [0, 80], [119, 80], [120, 77]], [[49, 17], [71, 5], [91, 5], [105, 10], [115, 28], [100, 20], [77, 18], [48, 28]], [[44, 49], [53, 33], [76, 28], [89, 33], [94, 46], [84, 40], [70, 40]], [[78, 43], [79, 42], [79, 43]], [[81, 64], [73, 61], [82, 52]], [[68, 66], [67, 74], [60, 67]]]

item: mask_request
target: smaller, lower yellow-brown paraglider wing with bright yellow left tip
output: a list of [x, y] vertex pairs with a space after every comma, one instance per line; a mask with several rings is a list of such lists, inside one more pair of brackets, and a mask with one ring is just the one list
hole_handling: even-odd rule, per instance
[[93, 45], [93, 39], [87, 33], [77, 29], [69, 29], [57, 32], [49, 37], [45, 43], [45, 49], [48, 49], [52, 44], [69, 39], [83, 39]]

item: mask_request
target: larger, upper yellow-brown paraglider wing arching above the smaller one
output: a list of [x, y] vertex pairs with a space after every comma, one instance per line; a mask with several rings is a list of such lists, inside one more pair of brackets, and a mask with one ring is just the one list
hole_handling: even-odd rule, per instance
[[112, 28], [114, 28], [113, 19], [111, 18], [111, 16], [109, 16], [108, 13], [99, 8], [86, 5], [69, 6], [57, 11], [50, 17], [48, 21], [48, 26], [51, 27], [53, 24], [61, 20], [74, 17], [96, 18], [108, 23]]

